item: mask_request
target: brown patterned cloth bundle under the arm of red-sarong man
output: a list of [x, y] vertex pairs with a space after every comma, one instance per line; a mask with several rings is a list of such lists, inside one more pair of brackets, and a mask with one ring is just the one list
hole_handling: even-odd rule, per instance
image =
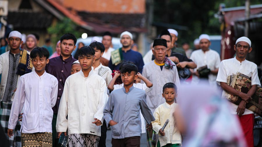
[[[227, 77], [227, 84], [240, 92], [247, 93], [251, 88], [251, 77], [238, 72], [236, 75], [233, 74]], [[236, 105], [239, 105], [242, 100], [238, 96], [230, 95], [227, 92], [225, 93], [225, 98]], [[256, 93], [252, 96], [252, 100], [246, 104], [246, 108], [262, 116], [262, 88], [257, 88]]]

